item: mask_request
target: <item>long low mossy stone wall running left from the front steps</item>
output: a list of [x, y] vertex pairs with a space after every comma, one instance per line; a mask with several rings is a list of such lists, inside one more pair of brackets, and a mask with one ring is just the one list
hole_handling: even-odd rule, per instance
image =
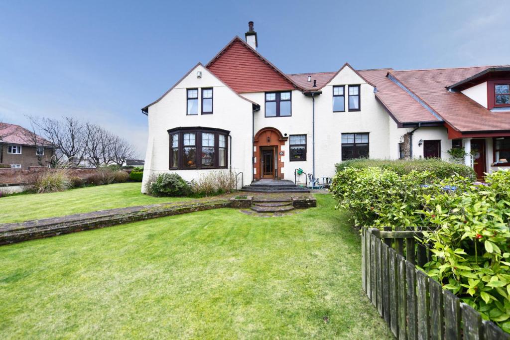
[[229, 199], [141, 205], [19, 223], [0, 224], [0, 245], [98, 229], [151, 218], [230, 207]]

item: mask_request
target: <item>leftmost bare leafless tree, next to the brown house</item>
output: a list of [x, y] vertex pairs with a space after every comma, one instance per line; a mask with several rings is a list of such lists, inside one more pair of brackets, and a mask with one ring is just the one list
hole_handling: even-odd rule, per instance
[[44, 138], [56, 147], [57, 161], [62, 156], [73, 163], [84, 159], [88, 134], [81, 121], [73, 117], [62, 117], [61, 120], [30, 117], [30, 121], [41, 130]]

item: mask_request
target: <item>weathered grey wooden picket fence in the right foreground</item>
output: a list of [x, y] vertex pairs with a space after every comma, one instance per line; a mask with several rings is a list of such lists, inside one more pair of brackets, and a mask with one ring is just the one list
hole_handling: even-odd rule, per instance
[[[430, 254], [411, 228], [362, 229], [363, 290], [398, 339], [508, 340], [510, 335], [461, 302], [416, 265]], [[405, 255], [404, 255], [405, 249]]]

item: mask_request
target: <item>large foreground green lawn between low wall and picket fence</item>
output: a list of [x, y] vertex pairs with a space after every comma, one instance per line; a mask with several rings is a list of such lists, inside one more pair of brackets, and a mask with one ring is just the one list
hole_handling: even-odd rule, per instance
[[391, 338], [361, 288], [358, 233], [317, 199], [2, 246], [2, 337]]

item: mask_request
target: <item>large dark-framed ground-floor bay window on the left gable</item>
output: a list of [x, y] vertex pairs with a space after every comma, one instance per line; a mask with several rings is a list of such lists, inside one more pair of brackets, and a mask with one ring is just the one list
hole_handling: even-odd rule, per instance
[[208, 127], [168, 130], [169, 169], [218, 169], [227, 167], [227, 136], [230, 132]]

